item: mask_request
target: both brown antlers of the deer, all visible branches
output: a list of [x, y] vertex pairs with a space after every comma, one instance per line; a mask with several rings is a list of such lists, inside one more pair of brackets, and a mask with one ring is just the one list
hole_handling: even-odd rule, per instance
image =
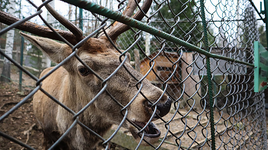
[[[44, 1], [44, 0], [43, 0]], [[139, 3], [141, 0], [137, 0], [137, 3]], [[132, 16], [132, 18], [141, 20], [148, 12], [153, 0], [146, 0], [143, 3], [142, 11], [139, 10], [136, 14]], [[123, 11], [124, 15], [131, 16], [134, 12], [134, 10], [137, 7], [137, 3], [135, 0], [129, 0], [126, 9]], [[74, 25], [72, 22], [70, 22], [68, 19], [60, 15], [54, 8], [52, 8], [49, 4], [45, 5], [48, 11], [60, 22], [62, 23], [66, 28], [68, 28], [70, 31], [55, 29], [60, 35], [62, 35], [66, 40], [68, 40], [72, 44], [76, 44], [80, 40], [84, 38], [82, 30], [78, 28], [76, 25]], [[0, 22], [5, 23], [7, 25], [11, 25], [20, 19], [0, 10]], [[43, 25], [39, 25], [30, 21], [26, 21], [18, 26], [16, 28], [42, 36], [42, 37], [48, 37], [51, 39], [56, 39], [62, 41], [61, 38], [58, 36], [55, 36], [53, 31]], [[111, 26], [111, 29], [108, 32], [108, 35], [113, 41], [116, 41], [117, 37], [123, 33], [124, 31], [128, 30], [129, 27], [123, 23], [115, 21], [114, 24]]]

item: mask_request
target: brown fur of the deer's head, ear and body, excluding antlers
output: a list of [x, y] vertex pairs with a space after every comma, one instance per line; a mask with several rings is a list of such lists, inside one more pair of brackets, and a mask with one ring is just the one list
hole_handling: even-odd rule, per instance
[[[55, 62], [61, 62], [72, 49], [63, 43], [52, 39], [21, 34], [30, 40], [34, 45]], [[79, 49], [77, 55], [102, 78], [107, 78], [120, 64], [120, 53], [115, 50], [106, 37], [89, 38]], [[143, 75], [137, 72], [129, 64], [130, 55], [127, 53], [128, 61], [124, 63], [127, 69], [141, 79]], [[124, 58], [124, 57], [123, 57]], [[65, 64], [59, 67], [51, 75], [42, 81], [42, 88], [54, 96], [64, 105], [75, 112], [83, 108], [101, 89], [101, 80], [94, 74], [89, 73], [83, 76], [79, 68], [84, 67], [75, 57], [72, 57]], [[53, 67], [46, 68], [40, 76], [47, 74]], [[107, 81], [107, 90], [122, 105], [126, 105], [138, 92], [137, 81], [121, 67], [119, 71]], [[142, 92], [153, 102], [156, 102], [163, 91], [151, 84], [147, 79], [142, 81]], [[141, 94], [127, 107], [127, 118], [133, 122], [148, 122], [153, 110], [148, 106], [148, 102]], [[166, 115], [170, 109], [171, 101], [166, 94], [160, 99], [159, 103]], [[73, 115], [50, 99], [42, 91], [37, 91], [33, 100], [34, 113], [44, 131], [44, 145], [50, 147], [73, 123]], [[120, 107], [111, 97], [103, 92], [81, 115], [79, 120], [89, 128], [103, 136], [112, 124], [119, 124], [122, 120]], [[156, 120], [155, 117], [153, 120]], [[140, 140], [138, 129], [128, 121], [123, 124], [129, 128], [132, 135]], [[142, 126], [143, 127], [143, 126]], [[145, 136], [147, 141], [154, 143], [158, 137]], [[67, 137], [57, 146], [62, 149], [94, 149], [100, 141], [98, 137], [87, 131], [85, 128], [76, 124], [68, 133]]]

